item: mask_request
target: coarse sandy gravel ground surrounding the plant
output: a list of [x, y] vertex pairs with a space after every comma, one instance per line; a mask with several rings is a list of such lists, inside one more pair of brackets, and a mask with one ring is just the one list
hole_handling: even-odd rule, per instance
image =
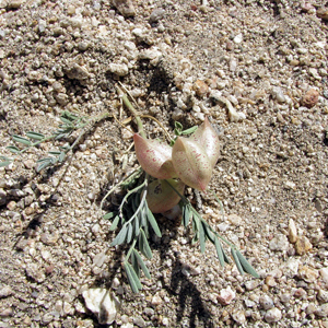
[[[130, 7], [134, 15], [128, 16]], [[72, 160], [37, 173], [66, 141], [0, 168], [0, 327], [328, 327], [328, 71], [325, 1], [0, 1], [0, 153], [50, 136], [62, 110], [90, 117]], [[133, 9], [132, 8], [132, 9]], [[156, 215], [151, 280], [133, 294], [104, 195], [138, 166], [121, 82], [173, 133], [209, 117], [222, 143], [203, 218], [259, 273], [224, 268]], [[96, 121], [103, 113], [106, 119]], [[144, 117], [151, 138], [161, 127]], [[113, 196], [106, 203], [116, 203]], [[225, 248], [229, 253], [229, 248]], [[120, 306], [106, 324], [85, 291]]]

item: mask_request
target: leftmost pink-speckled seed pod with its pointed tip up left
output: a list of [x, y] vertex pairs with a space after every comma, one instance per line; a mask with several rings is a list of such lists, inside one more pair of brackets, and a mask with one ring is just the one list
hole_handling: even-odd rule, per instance
[[138, 133], [133, 136], [133, 141], [138, 162], [149, 175], [157, 179], [176, 177], [168, 144], [144, 139]]

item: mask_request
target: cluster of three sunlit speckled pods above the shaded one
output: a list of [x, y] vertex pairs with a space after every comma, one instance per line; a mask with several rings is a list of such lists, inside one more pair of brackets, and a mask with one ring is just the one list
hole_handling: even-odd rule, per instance
[[133, 141], [137, 159], [149, 175], [160, 180], [178, 178], [206, 191], [220, 152], [219, 136], [208, 118], [189, 138], [178, 137], [173, 147], [138, 133]]

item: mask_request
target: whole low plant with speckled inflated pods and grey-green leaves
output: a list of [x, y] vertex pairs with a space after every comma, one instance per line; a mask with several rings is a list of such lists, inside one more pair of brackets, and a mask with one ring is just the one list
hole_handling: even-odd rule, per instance
[[[187, 130], [183, 130], [183, 126], [175, 122], [175, 136], [171, 138], [169, 144], [151, 140], [145, 136], [142, 116], [133, 108], [120, 87], [117, 87], [117, 92], [137, 121], [138, 133], [134, 133], [133, 142], [140, 166], [107, 192], [103, 198], [101, 209], [109, 195], [121, 187], [124, 197], [120, 204], [114, 211], [105, 214], [104, 219], [113, 220], [110, 231], [119, 229], [110, 246], [128, 246], [122, 266], [132, 291], [137, 293], [142, 289], [141, 271], [147, 278], [151, 278], [143, 256], [148, 259], [152, 258], [150, 236], [152, 234], [162, 236], [154, 214], [166, 212], [176, 206], [181, 209], [184, 226], [191, 223], [192, 243], [199, 242], [201, 253], [206, 250], [206, 242], [211, 242], [215, 246], [220, 265], [224, 266], [230, 262], [230, 259], [222, 247], [221, 242], [223, 242], [230, 247], [232, 258], [239, 272], [247, 272], [257, 278], [258, 274], [236, 246], [219, 235], [184, 196], [186, 187], [201, 192], [210, 192], [208, 185], [219, 159], [220, 140], [209, 119], [206, 118], [199, 127]], [[8, 151], [13, 154], [13, 157], [0, 156], [2, 161], [0, 166], [10, 165], [33, 147], [43, 142], [66, 140], [73, 131], [81, 130], [72, 144], [65, 143], [57, 150], [50, 151], [48, 156], [38, 160], [36, 171], [40, 172], [51, 165], [61, 164], [79, 144], [81, 138], [90, 131], [90, 127], [108, 116], [109, 113], [106, 112], [93, 119], [63, 112], [60, 117], [61, 125], [51, 136], [47, 137], [34, 131], [26, 132], [24, 137], [12, 136], [13, 141], [23, 147], [9, 145]], [[70, 161], [71, 159], [72, 156]], [[215, 195], [214, 198], [222, 209], [221, 201]]]

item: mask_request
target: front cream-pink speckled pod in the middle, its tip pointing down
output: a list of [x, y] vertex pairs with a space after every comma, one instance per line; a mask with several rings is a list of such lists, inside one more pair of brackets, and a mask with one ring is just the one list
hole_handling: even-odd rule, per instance
[[198, 142], [178, 137], [172, 149], [172, 162], [183, 183], [206, 191], [213, 167], [204, 149]]

